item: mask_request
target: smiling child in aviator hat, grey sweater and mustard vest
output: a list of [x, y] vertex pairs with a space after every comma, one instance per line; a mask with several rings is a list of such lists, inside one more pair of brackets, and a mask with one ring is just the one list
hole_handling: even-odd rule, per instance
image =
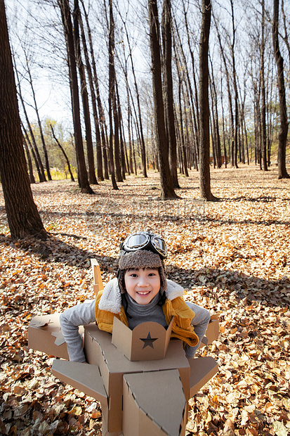
[[183, 288], [165, 276], [166, 243], [154, 233], [129, 235], [120, 246], [119, 271], [96, 300], [78, 304], [60, 315], [70, 361], [86, 361], [79, 326], [97, 322], [112, 333], [114, 316], [133, 329], [145, 321], [167, 327], [174, 316], [171, 337], [183, 340], [185, 354], [194, 357], [206, 333], [210, 314], [183, 300]]

